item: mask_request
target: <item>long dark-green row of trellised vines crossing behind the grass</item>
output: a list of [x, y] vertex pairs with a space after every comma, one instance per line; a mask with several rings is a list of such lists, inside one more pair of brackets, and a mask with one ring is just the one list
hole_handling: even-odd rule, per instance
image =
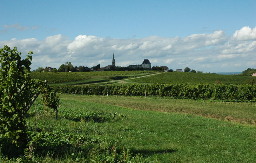
[[103, 86], [54, 86], [59, 93], [87, 95], [157, 96], [220, 100], [256, 100], [256, 85], [127, 84]]

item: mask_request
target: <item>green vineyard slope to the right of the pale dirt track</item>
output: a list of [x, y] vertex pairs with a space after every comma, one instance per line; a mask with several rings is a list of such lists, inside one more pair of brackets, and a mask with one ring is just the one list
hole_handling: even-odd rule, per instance
[[220, 84], [244, 84], [246, 80], [250, 80], [252, 78], [254, 77], [205, 73], [170, 72], [144, 78], [132, 79], [132, 82], [156, 84], [216, 84], [216, 82]]

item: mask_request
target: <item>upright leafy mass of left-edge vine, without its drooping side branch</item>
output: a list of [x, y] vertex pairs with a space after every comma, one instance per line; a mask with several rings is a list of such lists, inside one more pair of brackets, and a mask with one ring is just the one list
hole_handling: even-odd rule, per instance
[[0, 134], [10, 138], [14, 144], [25, 140], [25, 120], [23, 111], [30, 102], [29, 90], [18, 93], [22, 84], [29, 81], [29, 71], [33, 52], [21, 60], [21, 52], [7, 45], [0, 49]]

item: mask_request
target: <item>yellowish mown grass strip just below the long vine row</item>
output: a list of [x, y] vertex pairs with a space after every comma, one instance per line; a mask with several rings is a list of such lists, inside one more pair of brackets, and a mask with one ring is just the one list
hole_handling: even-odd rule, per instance
[[256, 124], [256, 104], [254, 102], [203, 101], [203, 99], [194, 101], [157, 97], [70, 96], [67, 94], [62, 94], [61, 98], [72, 98], [78, 101], [128, 107], [136, 110], [189, 113], [225, 121]]

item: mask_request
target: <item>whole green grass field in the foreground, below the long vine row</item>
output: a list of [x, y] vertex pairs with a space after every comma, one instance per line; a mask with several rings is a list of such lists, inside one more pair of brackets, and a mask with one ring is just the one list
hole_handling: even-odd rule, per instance
[[[36, 158], [39, 162], [73, 162], [76, 159], [105, 162], [108, 157], [115, 157], [114, 162], [125, 157], [126, 161], [122, 162], [136, 162], [135, 158], [138, 162], [256, 161], [255, 125], [221, 120], [225, 116], [233, 117], [235, 121], [255, 120], [255, 104], [61, 95], [58, 120], [42, 107], [37, 103], [29, 111], [27, 122], [31, 130], [35, 130], [36, 123], [37, 130], [55, 131], [59, 137], [65, 136], [56, 132], [60, 130], [78, 137], [87, 135], [92, 140], [107, 139], [107, 142], [64, 145], [63, 153], [41, 151], [42, 156], [39, 154]], [[116, 117], [123, 118], [95, 122], [73, 117], [87, 112], [115, 113], [122, 115]], [[49, 150], [50, 147], [45, 148]], [[115, 156], [112, 155], [114, 149]]]

